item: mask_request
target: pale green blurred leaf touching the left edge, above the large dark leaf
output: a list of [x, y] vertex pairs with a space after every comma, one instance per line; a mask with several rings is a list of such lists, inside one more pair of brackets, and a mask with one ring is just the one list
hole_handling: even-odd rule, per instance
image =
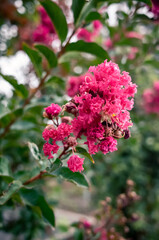
[[11, 182], [8, 186], [8, 189], [0, 197], [0, 205], [3, 205], [5, 202], [7, 202], [21, 187], [22, 183], [19, 180]]

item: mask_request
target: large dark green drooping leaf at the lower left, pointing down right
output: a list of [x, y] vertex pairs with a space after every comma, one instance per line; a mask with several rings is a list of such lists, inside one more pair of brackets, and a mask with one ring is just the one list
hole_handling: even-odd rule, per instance
[[43, 195], [40, 195], [34, 189], [21, 189], [20, 194], [25, 202], [32, 206], [38, 206], [41, 210], [43, 217], [53, 226], [55, 227], [55, 216], [54, 212], [45, 200]]

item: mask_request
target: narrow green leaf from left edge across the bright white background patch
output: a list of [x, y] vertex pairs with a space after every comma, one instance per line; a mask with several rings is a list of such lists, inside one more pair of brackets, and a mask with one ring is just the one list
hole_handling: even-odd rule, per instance
[[13, 76], [3, 75], [2, 73], [0, 73], [0, 76], [2, 76], [7, 82], [9, 82], [14, 87], [17, 95], [19, 95], [22, 98], [28, 97], [28, 90], [25, 88], [23, 84], [19, 84]]

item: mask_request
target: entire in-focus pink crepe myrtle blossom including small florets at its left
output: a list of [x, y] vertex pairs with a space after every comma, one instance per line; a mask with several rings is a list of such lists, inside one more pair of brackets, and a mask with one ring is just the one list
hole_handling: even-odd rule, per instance
[[[77, 94], [62, 107], [61, 114], [65, 116], [61, 124], [57, 104], [45, 108], [44, 112], [44, 117], [51, 119], [53, 116], [53, 124], [43, 131], [44, 154], [53, 158], [61, 141], [62, 155], [72, 149], [73, 155], [67, 164], [73, 172], [83, 170], [84, 158], [75, 154], [79, 140], [80, 145], [88, 147], [89, 154], [99, 151], [107, 154], [117, 150], [117, 139], [130, 137], [129, 127], [133, 124], [129, 111], [133, 108], [137, 88], [129, 73], [121, 73], [117, 64], [107, 60], [91, 66], [81, 79]], [[57, 115], [55, 109], [58, 109]], [[81, 143], [83, 136], [86, 140]]]

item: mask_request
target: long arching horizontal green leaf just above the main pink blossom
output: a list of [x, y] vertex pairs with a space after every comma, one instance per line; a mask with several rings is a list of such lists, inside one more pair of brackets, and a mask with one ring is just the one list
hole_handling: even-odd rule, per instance
[[94, 42], [85, 42], [83, 40], [79, 40], [77, 42], [70, 43], [66, 47], [66, 51], [86, 52], [103, 60], [110, 59], [108, 53], [101, 46]]

